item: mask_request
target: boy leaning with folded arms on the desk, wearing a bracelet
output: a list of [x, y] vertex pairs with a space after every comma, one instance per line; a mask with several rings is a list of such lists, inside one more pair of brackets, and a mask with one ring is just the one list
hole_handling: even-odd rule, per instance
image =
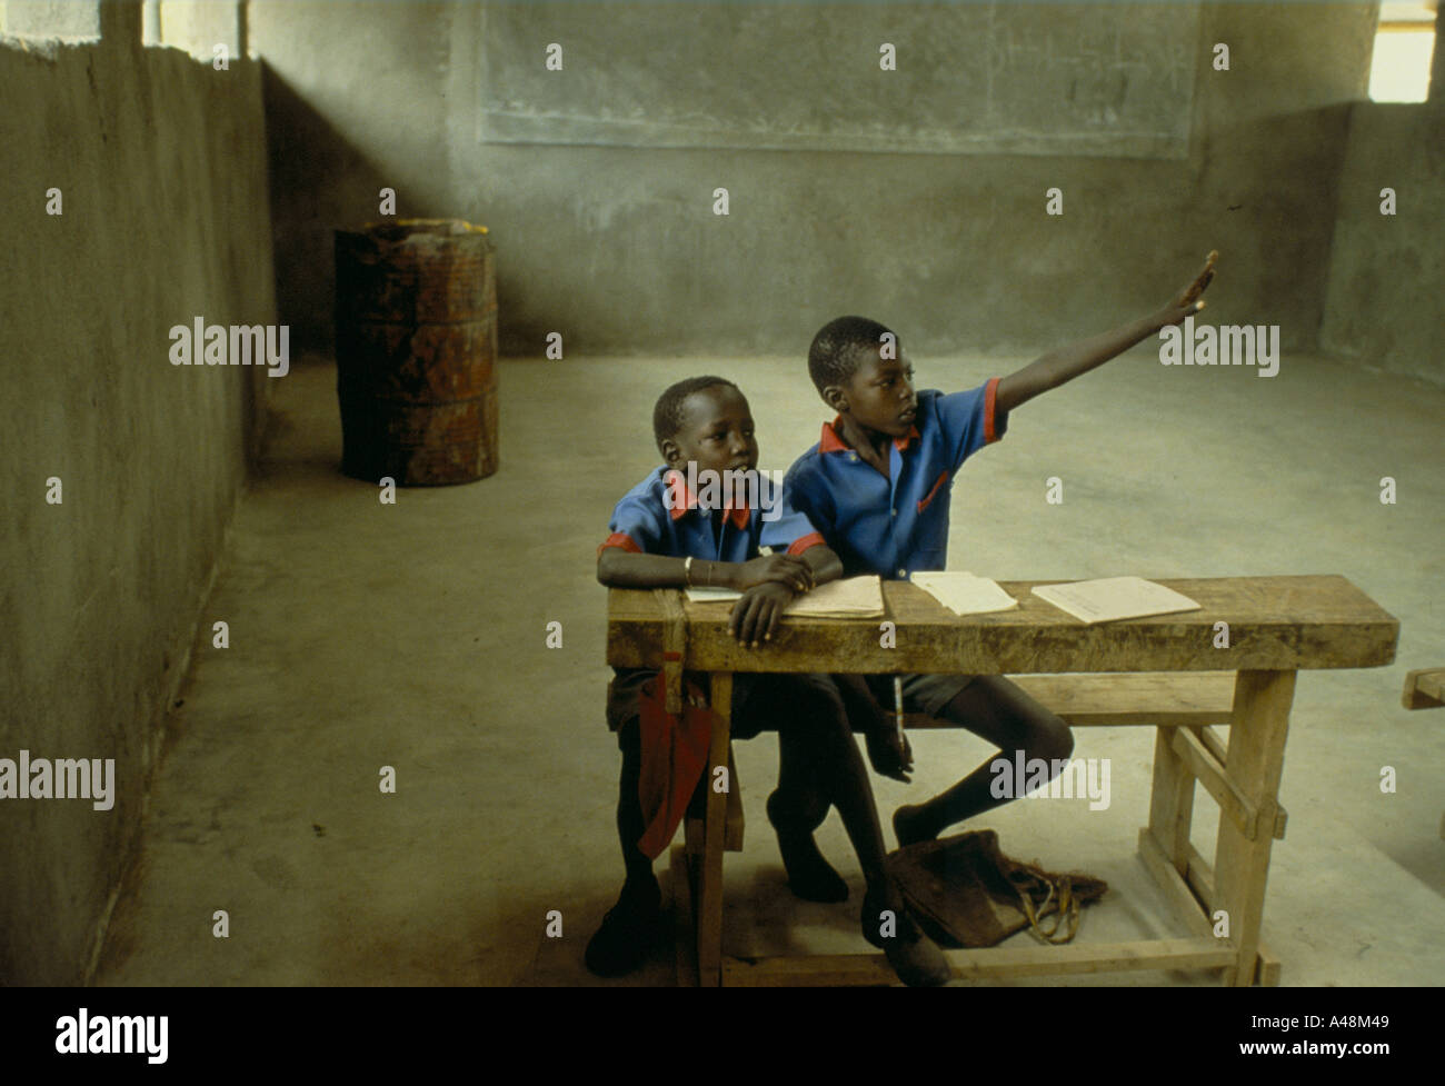
[[[731, 381], [695, 377], [672, 386], [657, 400], [653, 430], [666, 465], [649, 472], [617, 503], [611, 536], [598, 547], [597, 579], [617, 588], [744, 589], [728, 630], [756, 648], [770, 640], [798, 592], [837, 578], [842, 565], [808, 520], [777, 501], [782, 495], [766, 477], [756, 474], [753, 417]], [[696, 479], [705, 479], [705, 472], [750, 472], [759, 487], [757, 507], [734, 498], [730, 508], [705, 508], [699, 495], [688, 491], [689, 466]], [[708, 492], [705, 484], [699, 490]], [[763, 546], [786, 553], [760, 556]], [[681, 816], [673, 812], [669, 822], [663, 814], [649, 826], [639, 796], [640, 784], [652, 780], [659, 761], [668, 757], [660, 750], [644, 750], [642, 741], [649, 709], [655, 713], [650, 719], [657, 719], [659, 673], [616, 672], [607, 718], [623, 752], [617, 835], [627, 877], [617, 905], [587, 946], [587, 966], [601, 976], [630, 972], [647, 955], [660, 900], [652, 859], [666, 848]], [[705, 682], [705, 676], [686, 679]], [[763, 729], [779, 734], [779, 781], [767, 800], [767, 816], [777, 830], [793, 892], [814, 901], [842, 901], [848, 895], [847, 885], [812, 839], [828, 806], [837, 804], [867, 881], [864, 934], [887, 953], [903, 981], [946, 981], [949, 970], [942, 953], [907, 918], [884, 872], [873, 791], [832, 682], [827, 676], [740, 673], [733, 686], [731, 719], [736, 739]], [[685, 737], [675, 735], [669, 747], [676, 750], [682, 742]], [[691, 790], [691, 784], [686, 787]], [[883, 910], [894, 914], [893, 937], [879, 934]]]

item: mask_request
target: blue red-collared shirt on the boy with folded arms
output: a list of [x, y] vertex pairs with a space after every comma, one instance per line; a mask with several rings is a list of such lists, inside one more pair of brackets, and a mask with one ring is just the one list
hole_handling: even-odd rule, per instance
[[[613, 534], [597, 553], [601, 555], [607, 547], [621, 547], [634, 555], [691, 555], [711, 562], [747, 562], [757, 557], [759, 547], [786, 547], [789, 555], [801, 555], [824, 542], [790, 503], [785, 500], [773, 505], [779, 495], [766, 475], [759, 474], [757, 482], [760, 507], [728, 508], [722, 518], [722, 534], [715, 537], [712, 513], [698, 508], [698, 495], [688, 490], [686, 481], [668, 466], [656, 468], [617, 503], [608, 524]], [[763, 520], [764, 510], [770, 507], [779, 516]]]

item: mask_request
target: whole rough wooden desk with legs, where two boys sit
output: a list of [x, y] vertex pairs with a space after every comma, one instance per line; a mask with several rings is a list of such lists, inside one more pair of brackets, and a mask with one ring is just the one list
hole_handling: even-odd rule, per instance
[[[1399, 622], [1342, 576], [1160, 581], [1198, 601], [1201, 609], [1100, 625], [1084, 625], [1039, 599], [1029, 591], [1035, 583], [1055, 582], [1003, 582], [1019, 601], [1017, 609], [957, 617], [907, 582], [884, 582], [886, 618], [788, 620], [759, 650], [728, 637], [725, 605], [691, 604], [673, 589], [611, 589], [607, 663], [660, 667], [668, 643], [688, 670], [709, 672], [712, 706], [722, 718], [712, 735], [714, 767], [727, 764], [734, 672], [1234, 672], [1227, 750], [1204, 729], [1176, 741], [1166, 739], [1160, 726], [1150, 825], [1140, 832], [1146, 865], [1181, 907], [1194, 939], [946, 953], [957, 976], [1222, 968], [1224, 983], [1253, 983], [1270, 846], [1283, 829], [1279, 778], [1295, 673], [1389, 664]], [[894, 624], [892, 648], [881, 644], [884, 621]], [[1215, 647], [1220, 622], [1228, 624], [1227, 648]], [[1189, 845], [1196, 777], [1228, 800], [1228, 807], [1221, 804], [1212, 871]], [[709, 771], [705, 780], [711, 778]], [[769, 973], [777, 973], [776, 963], [721, 956], [725, 800], [708, 791], [698, 979], [717, 985], [725, 973], [730, 983], [767, 982]], [[1227, 939], [1212, 934], [1217, 910], [1228, 913]], [[881, 955], [838, 955], [814, 963], [824, 983], [892, 981]], [[795, 969], [786, 975], [789, 982], [802, 981]]]

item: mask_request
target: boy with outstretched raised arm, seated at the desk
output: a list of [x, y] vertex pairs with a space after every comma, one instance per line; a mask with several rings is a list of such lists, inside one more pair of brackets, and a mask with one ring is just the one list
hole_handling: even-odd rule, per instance
[[[812, 341], [808, 373], [838, 417], [789, 469], [785, 494], [822, 531], [845, 576], [906, 579], [919, 569], [944, 569], [949, 491], [964, 461], [1004, 435], [1012, 410], [1202, 309], [1198, 297], [1214, 277], [1217, 256], [1211, 253], [1199, 277], [1159, 312], [948, 396], [915, 393], [913, 368], [883, 325], [860, 316], [829, 322]], [[835, 679], [854, 721], [868, 732], [874, 768], [906, 783], [912, 751], [879, 708], [893, 708], [892, 677]], [[1004, 757], [1023, 751], [1051, 770], [1074, 750], [1068, 725], [1003, 676], [907, 674], [903, 702], [910, 712], [972, 731]], [[926, 803], [899, 807], [893, 814], [899, 845], [936, 838], [1006, 803], [990, 789], [991, 763]]]

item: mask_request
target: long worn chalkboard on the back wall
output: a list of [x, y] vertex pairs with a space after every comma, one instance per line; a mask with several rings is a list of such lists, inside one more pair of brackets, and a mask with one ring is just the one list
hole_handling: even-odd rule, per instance
[[1182, 157], [1199, 56], [1196, 3], [491, 3], [483, 27], [488, 143]]

